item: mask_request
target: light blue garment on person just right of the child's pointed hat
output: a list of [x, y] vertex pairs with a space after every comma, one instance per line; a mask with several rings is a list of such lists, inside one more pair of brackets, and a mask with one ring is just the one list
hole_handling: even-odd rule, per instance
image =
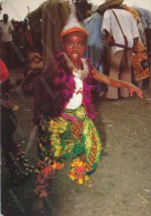
[[104, 73], [104, 39], [101, 33], [103, 16], [95, 12], [91, 17], [83, 21], [84, 28], [88, 31], [86, 58], [89, 58], [93, 65]]

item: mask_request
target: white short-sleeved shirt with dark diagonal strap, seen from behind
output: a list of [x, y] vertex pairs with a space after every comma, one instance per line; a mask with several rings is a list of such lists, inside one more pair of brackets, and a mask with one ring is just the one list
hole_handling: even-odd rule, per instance
[[[130, 12], [122, 9], [112, 9], [112, 10], [118, 17], [118, 20], [120, 22], [125, 35], [127, 35], [128, 47], [132, 48], [133, 39], [139, 38], [139, 31], [133, 16]], [[122, 32], [117, 22], [117, 19], [115, 18], [115, 14], [110, 9], [104, 13], [101, 31], [105, 33], [105, 30], [107, 30], [114, 37], [116, 43], [125, 45], [125, 39]], [[111, 51], [114, 53], [119, 50], [123, 50], [123, 48], [111, 47]]]

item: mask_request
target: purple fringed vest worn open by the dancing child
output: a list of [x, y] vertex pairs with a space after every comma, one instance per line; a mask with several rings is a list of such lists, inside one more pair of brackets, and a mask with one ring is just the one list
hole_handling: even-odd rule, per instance
[[[72, 99], [74, 90], [75, 90], [75, 81], [74, 75], [72, 73], [72, 69], [67, 65], [67, 61], [63, 53], [57, 53], [54, 56], [56, 63], [56, 70], [53, 72], [50, 81], [47, 78], [43, 75], [43, 79], [47, 82], [48, 88], [53, 91], [53, 97], [50, 94], [41, 93], [41, 97], [45, 97], [44, 100], [40, 100], [41, 104], [39, 104], [40, 113], [44, 116], [57, 117], [63, 114], [66, 104], [69, 99]], [[90, 71], [91, 64], [87, 60], [88, 69]], [[44, 74], [51, 74], [53, 66], [48, 66], [47, 71]], [[41, 78], [40, 78], [41, 80]], [[87, 115], [90, 119], [95, 117], [95, 111], [91, 104], [91, 90], [93, 78], [89, 73], [86, 79], [83, 80], [83, 105], [86, 110]], [[40, 85], [40, 84], [39, 84]], [[44, 89], [44, 88], [43, 88]], [[45, 91], [46, 92], [46, 91]], [[45, 96], [44, 96], [45, 95]]]

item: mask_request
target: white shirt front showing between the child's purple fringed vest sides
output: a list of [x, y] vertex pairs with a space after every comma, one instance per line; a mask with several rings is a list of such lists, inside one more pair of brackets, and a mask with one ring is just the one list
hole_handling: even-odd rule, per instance
[[66, 109], [75, 110], [79, 105], [82, 105], [83, 102], [83, 81], [80, 80], [79, 75], [74, 73], [74, 81], [75, 81], [75, 92], [73, 94], [73, 97], [69, 100], [69, 102], [66, 105]]

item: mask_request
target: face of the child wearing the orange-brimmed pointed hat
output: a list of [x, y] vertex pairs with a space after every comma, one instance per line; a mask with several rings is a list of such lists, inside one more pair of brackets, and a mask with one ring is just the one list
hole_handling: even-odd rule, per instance
[[87, 35], [83, 32], [72, 32], [64, 37], [64, 51], [68, 58], [78, 63], [86, 50]]

